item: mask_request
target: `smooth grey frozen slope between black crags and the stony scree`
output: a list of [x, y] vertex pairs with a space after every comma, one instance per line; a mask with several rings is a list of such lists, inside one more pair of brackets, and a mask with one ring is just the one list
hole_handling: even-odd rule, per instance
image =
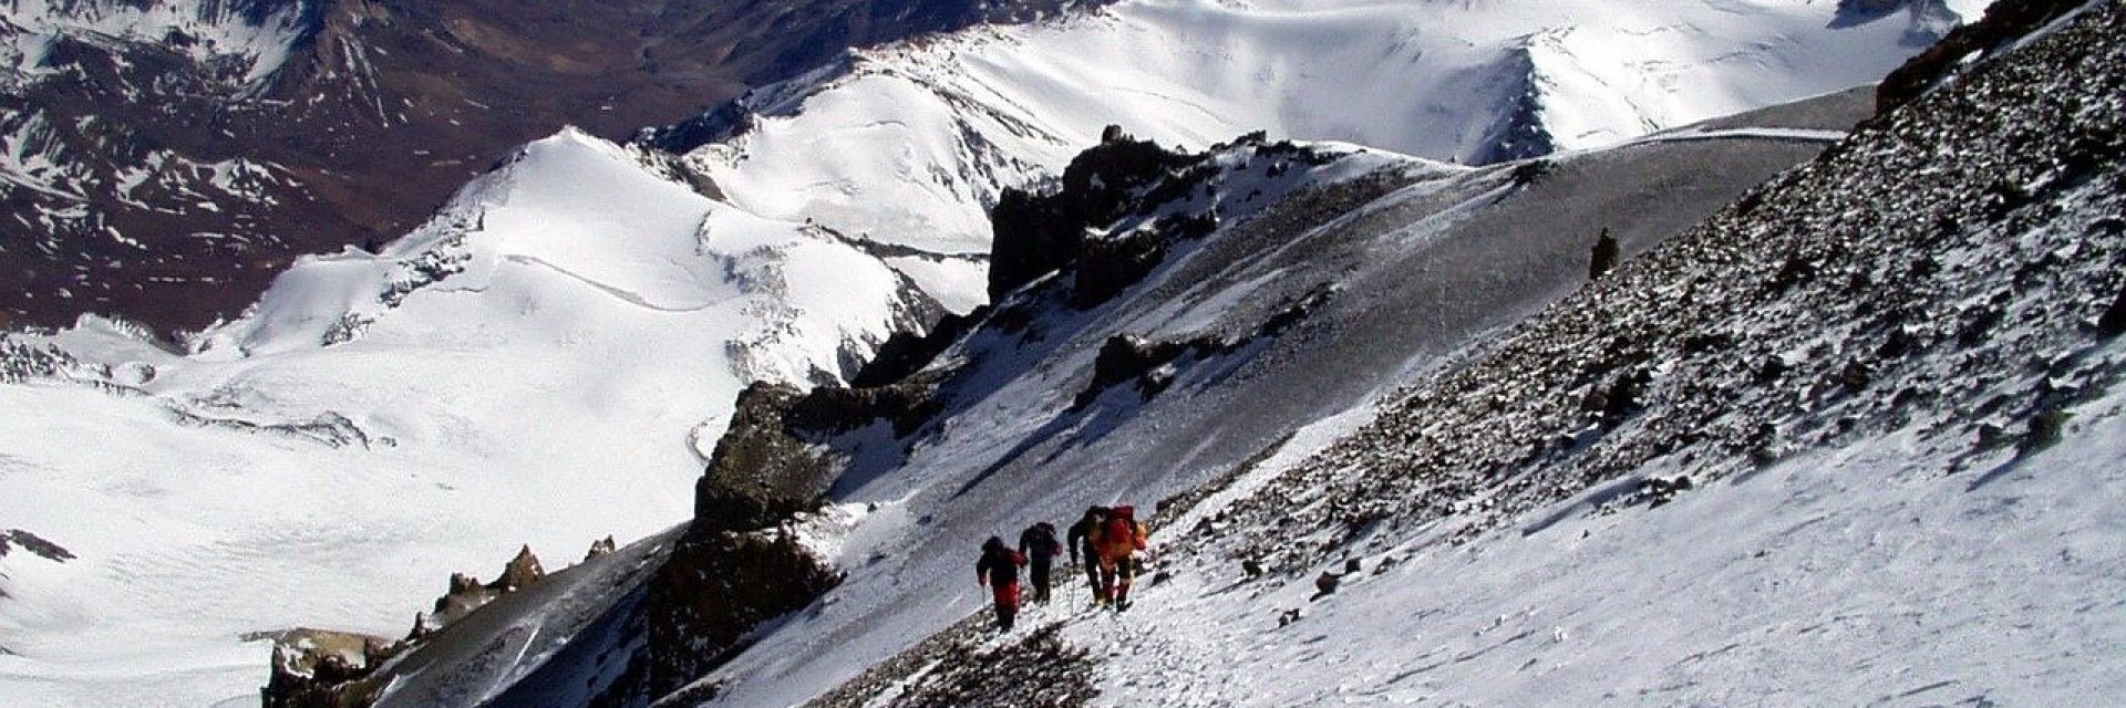
[[[1560, 155], [1533, 181], [1350, 147], [1216, 153], [1208, 189], [1167, 191], [1208, 193], [1167, 208], [1218, 213], [1216, 234], [1097, 306], [1067, 306], [1069, 274], [1014, 293], [933, 364], [940, 419], [833, 442], [853, 459], [838, 500], [876, 504], [838, 546], [848, 580], [704, 682], [731, 706], [804, 702], [978, 610], [980, 538], [1086, 504], [1150, 512], [1280, 444], [1335, 440], [1384, 391], [1571, 293], [1603, 225], [1635, 253], [1824, 145], [1752, 134]], [[1118, 336], [1222, 344], [1157, 368], [1157, 395], [1095, 389]]]

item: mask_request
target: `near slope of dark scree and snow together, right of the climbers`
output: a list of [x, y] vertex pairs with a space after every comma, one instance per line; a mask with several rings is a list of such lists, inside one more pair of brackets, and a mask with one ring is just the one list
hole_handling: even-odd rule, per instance
[[2126, 6], [2090, 6], [1182, 495], [1137, 608], [969, 621], [831, 706], [2115, 702]]

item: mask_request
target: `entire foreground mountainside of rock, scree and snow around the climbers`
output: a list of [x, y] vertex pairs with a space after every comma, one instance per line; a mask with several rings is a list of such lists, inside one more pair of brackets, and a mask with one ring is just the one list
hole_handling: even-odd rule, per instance
[[[1665, 240], [1677, 174], [1837, 100], [1484, 170], [1242, 140], [1133, 183], [1103, 145], [1086, 183], [1142, 189], [923, 404], [759, 419], [810, 446], [753, 470], [836, 504], [750, 538], [844, 576], [665, 704], [2105, 702], [2126, 6], [2088, 9]], [[1646, 251], [1588, 283], [1603, 225]], [[989, 631], [974, 544], [1099, 502], [1157, 508], [1137, 608]], [[657, 661], [619, 659], [657, 593], [497, 612], [383, 702], [580, 702]]]

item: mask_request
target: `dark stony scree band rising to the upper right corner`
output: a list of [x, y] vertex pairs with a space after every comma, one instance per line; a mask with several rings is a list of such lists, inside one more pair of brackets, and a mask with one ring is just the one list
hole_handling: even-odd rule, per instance
[[2088, 355], [2126, 287], [2122, 26], [2117, 4], [2090, 11], [1871, 121], [1205, 510], [1182, 549], [1297, 570], [1590, 489], [1654, 502], [1677, 489], [1637, 476], [1656, 461], [1703, 483], [1907, 427], [1964, 455], [2045, 444], [2122, 374]]

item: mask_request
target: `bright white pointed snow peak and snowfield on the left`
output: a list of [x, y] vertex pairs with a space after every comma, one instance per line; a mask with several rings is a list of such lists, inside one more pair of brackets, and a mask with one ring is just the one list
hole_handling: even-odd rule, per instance
[[266, 644], [240, 634], [398, 636], [523, 542], [559, 568], [685, 521], [733, 391], [838, 381], [914, 325], [876, 257], [644, 159], [540, 140], [385, 253], [298, 264], [196, 355], [51, 336], [85, 364], [0, 385], [0, 519], [79, 559], [0, 559], [0, 704], [251, 702]]

